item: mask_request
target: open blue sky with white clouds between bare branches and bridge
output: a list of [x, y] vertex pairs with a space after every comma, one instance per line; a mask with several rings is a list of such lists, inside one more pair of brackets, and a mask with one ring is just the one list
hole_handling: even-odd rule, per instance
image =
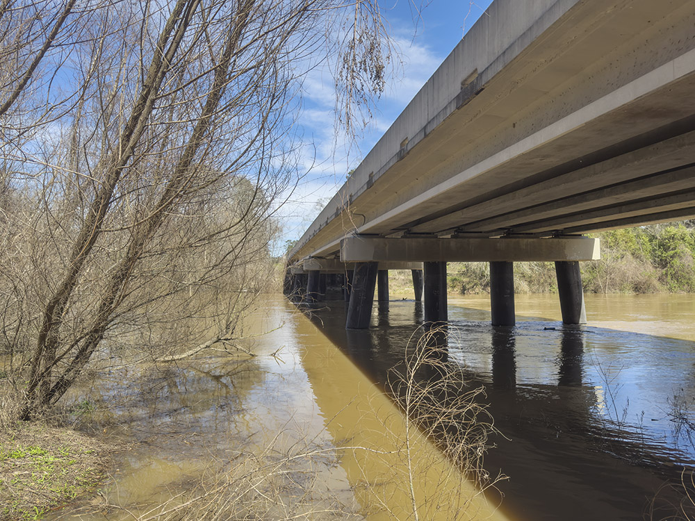
[[297, 131], [304, 140], [300, 154], [302, 178], [277, 213], [283, 225], [278, 253], [284, 251], [286, 240], [302, 236], [343, 185], [347, 172], [359, 165], [464, 33], [479, 17], [486, 16], [491, 1], [432, 0], [423, 6], [412, 0], [379, 1], [401, 65], [394, 68], [386, 90], [375, 103], [372, 119], [355, 143], [345, 142], [340, 130], [336, 132], [334, 81], [330, 75], [317, 70], [306, 79], [297, 121]]

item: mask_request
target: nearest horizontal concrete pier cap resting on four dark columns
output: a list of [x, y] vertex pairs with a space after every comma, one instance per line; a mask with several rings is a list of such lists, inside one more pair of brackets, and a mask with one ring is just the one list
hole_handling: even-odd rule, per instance
[[[348, 237], [341, 241], [341, 260], [489, 262], [594, 261], [599, 240], [573, 238], [380, 238]], [[379, 267], [381, 265], [379, 264]]]

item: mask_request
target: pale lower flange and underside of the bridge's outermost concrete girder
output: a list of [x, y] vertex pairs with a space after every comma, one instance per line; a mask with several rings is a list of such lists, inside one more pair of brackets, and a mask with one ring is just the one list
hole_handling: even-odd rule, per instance
[[[674, 75], [674, 71], [678, 72]], [[686, 97], [691, 96], [689, 93], [695, 89], [692, 72], [695, 72], [695, 50], [491, 154], [489, 158], [463, 169], [446, 181], [413, 192], [412, 197], [391, 210], [384, 212], [377, 207], [373, 212], [374, 217], [368, 218], [358, 232], [388, 233], [395, 226], [407, 226], [412, 220], [427, 220], [427, 216], [433, 212], [456, 204], [471, 194], [485, 197], [491, 187], [528, 186], [533, 184], [529, 181], [538, 172], [543, 172], [553, 163], [562, 164], [577, 159], [577, 154], [582, 158], [597, 148], [617, 146], [620, 140], [629, 140], [640, 131], [648, 132], [654, 126], [668, 126], [685, 115], [692, 115], [695, 112], [695, 99], [686, 101]], [[667, 81], [662, 83], [657, 78]], [[674, 83], [669, 84], [669, 80]], [[672, 98], [669, 97], [670, 91], [673, 91]], [[674, 106], [673, 99], [678, 99], [682, 104], [680, 112]], [[642, 117], [644, 113], [658, 114], [661, 119], [647, 123], [646, 118]], [[635, 124], [632, 129], [630, 122]], [[638, 122], [641, 127], [637, 126]], [[554, 158], [552, 163], [549, 157]]]

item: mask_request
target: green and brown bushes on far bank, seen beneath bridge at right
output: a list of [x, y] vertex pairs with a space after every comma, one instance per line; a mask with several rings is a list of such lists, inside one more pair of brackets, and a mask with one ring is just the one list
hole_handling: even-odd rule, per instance
[[[695, 292], [695, 221], [595, 233], [600, 261], [581, 263], [584, 292]], [[449, 292], [488, 293], [488, 263], [449, 263]], [[553, 263], [514, 263], [517, 293], [557, 292]]]

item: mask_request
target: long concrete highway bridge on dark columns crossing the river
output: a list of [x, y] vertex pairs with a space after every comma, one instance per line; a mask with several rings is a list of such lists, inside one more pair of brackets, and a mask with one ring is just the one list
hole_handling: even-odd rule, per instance
[[286, 292], [341, 273], [347, 328], [377, 279], [411, 269], [445, 321], [446, 262], [490, 263], [514, 324], [513, 263], [554, 261], [562, 320], [585, 322], [586, 233], [695, 216], [695, 2], [495, 0], [288, 254]]

